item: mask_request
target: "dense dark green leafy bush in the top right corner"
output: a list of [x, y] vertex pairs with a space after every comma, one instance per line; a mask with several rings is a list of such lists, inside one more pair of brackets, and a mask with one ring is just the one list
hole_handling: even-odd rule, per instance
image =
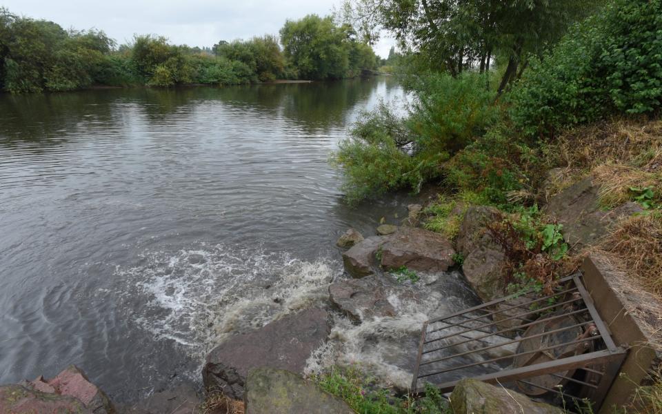
[[563, 37], [512, 93], [525, 135], [561, 130], [610, 113], [662, 106], [662, 0], [613, 0]]

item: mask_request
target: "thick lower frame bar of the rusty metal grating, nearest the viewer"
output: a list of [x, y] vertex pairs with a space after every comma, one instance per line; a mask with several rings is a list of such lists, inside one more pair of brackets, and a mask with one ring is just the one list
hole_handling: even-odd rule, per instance
[[[596, 351], [589, 354], [575, 355], [574, 357], [568, 357], [563, 359], [556, 359], [555, 361], [550, 362], [541, 362], [540, 364], [530, 365], [530, 366], [521, 366], [520, 368], [513, 368], [505, 371], [498, 371], [496, 373], [489, 373], [478, 375], [473, 377], [474, 380], [490, 382], [494, 384], [497, 380], [499, 382], [510, 382], [523, 380], [530, 377], [540, 377], [541, 375], [547, 375], [551, 373], [558, 373], [562, 371], [570, 371], [576, 368], [583, 368], [585, 364], [597, 364], [599, 362], [609, 362], [614, 359], [618, 359], [625, 354], [623, 348], [616, 348], [616, 351], [609, 351], [607, 349], [603, 351]], [[437, 388], [441, 393], [448, 393], [453, 390], [455, 384], [459, 380], [445, 382], [439, 384]]]

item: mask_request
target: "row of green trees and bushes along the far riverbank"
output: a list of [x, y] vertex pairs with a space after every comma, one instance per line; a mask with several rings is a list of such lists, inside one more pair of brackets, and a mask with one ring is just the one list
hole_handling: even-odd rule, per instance
[[331, 17], [314, 14], [288, 20], [280, 39], [265, 35], [201, 49], [172, 45], [151, 34], [117, 46], [101, 30], [64, 30], [57, 23], [0, 8], [0, 89], [12, 93], [95, 85], [342, 79], [375, 69], [379, 63], [350, 26], [337, 26]]

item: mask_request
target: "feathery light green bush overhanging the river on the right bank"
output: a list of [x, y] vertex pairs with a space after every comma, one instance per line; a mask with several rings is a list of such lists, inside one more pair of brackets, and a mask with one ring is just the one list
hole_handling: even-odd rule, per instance
[[350, 204], [399, 188], [418, 192], [425, 181], [440, 177], [443, 163], [499, 115], [484, 82], [477, 74], [408, 79], [417, 95], [408, 118], [384, 104], [363, 114], [334, 156], [345, 172]]

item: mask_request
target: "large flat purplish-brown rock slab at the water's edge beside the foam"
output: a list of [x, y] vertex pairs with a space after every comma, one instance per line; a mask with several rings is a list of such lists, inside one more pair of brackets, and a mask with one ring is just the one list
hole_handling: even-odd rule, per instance
[[303, 372], [306, 359], [328, 337], [328, 319], [325, 311], [310, 308], [228, 339], [207, 355], [202, 371], [205, 387], [241, 400], [250, 368]]

